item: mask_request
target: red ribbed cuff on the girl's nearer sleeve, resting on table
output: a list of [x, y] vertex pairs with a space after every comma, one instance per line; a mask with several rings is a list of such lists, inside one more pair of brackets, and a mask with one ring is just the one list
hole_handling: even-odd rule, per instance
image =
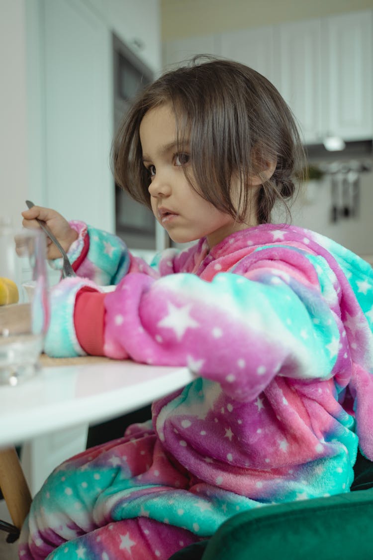
[[103, 326], [106, 293], [82, 288], [77, 293], [74, 308], [74, 326], [78, 342], [91, 356], [104, 356]]

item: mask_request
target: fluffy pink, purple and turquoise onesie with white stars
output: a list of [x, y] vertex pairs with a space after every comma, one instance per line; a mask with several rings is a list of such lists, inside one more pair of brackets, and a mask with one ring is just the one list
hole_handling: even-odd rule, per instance
[[314, 232], [260, 225], [150, 267], [72, 226], [81, 277], [52, 292], [46, 352], [196, 377], [155, 402], [151, 422], [50, 475], [20, 558], [166, 560], [237, 512], [348, 492], [357, 447], [373, 459], [369, 264]]

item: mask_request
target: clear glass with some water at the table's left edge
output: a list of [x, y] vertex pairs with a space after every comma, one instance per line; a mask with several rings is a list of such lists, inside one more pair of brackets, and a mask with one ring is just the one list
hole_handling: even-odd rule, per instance
[[[23, 284], [32, 286], [32, 296]], [[39, 370], [49, 322], [46, 239], [40, 230], [0, 223], [0, 384]]]

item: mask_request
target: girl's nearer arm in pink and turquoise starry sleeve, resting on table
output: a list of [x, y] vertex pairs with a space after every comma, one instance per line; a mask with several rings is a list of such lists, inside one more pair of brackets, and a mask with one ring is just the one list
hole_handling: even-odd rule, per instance
[[[238, 400], [256, 398], [275, 375], [328, 379], [334, 370], [347, 371], [337, 287], [326, 273], [322, 286], [299, 251], [272, 252], [257, 251], [236, 274], [216, 274], [212, 282], [134, 273], [101, 294], [65, 279], [68, 298], [54, 302], [46, 352], [187, 365]], [[58, 343], [59, 325], [74, 342], [67, 353]]]

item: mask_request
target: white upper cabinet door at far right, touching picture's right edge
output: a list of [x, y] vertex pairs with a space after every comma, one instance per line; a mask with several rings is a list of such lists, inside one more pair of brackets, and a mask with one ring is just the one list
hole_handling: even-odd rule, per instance
[[346, 140], [371, 138], [372, 12], [323, 20], [324, 132]]

